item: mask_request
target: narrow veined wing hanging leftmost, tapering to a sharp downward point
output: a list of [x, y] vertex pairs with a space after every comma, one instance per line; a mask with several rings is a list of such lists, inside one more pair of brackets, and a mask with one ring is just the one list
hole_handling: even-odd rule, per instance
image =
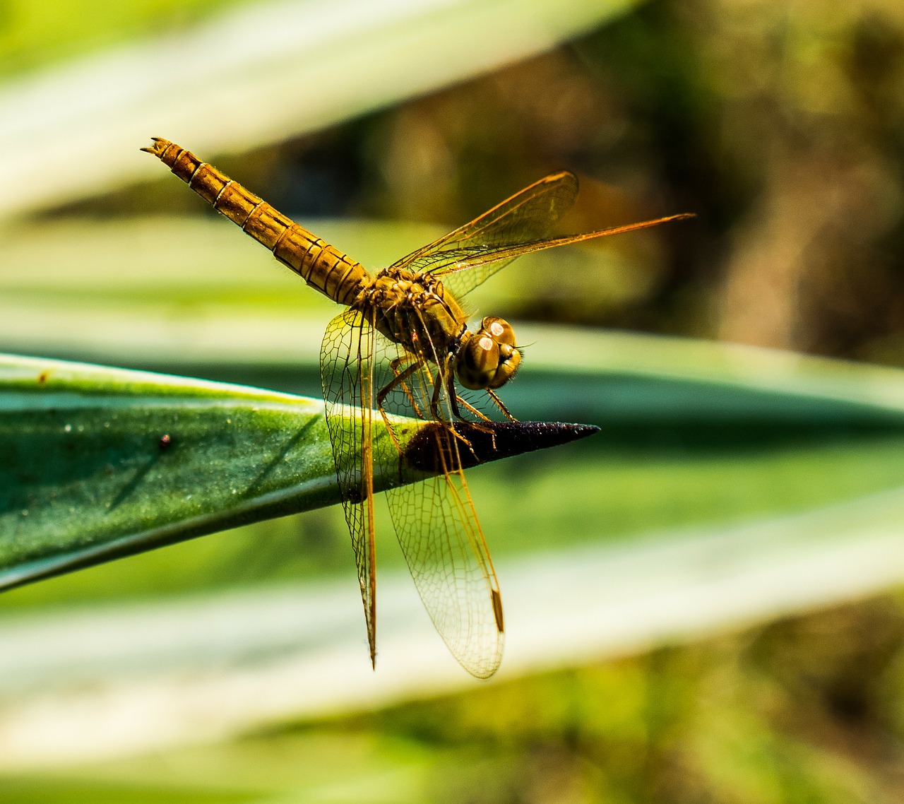
[[326, 425], [345, 522], [352, 535], [372, 664], [376, 661], [377, 625], [373, 529], [373, 337], [374, 330], [363, 315], [348, 309], [330, 321], [320, 348]]

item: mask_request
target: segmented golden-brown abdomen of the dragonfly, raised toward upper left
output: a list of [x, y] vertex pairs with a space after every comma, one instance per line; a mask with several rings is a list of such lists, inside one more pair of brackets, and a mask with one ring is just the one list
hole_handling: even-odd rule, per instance
[[312, 288], [344, 305], [350, 305], [358, 295], [367, 278], [360, 262], [315, 237], [191, 151], [159, 137], [154, 137], [153, 146], [142, 150], [157, 156], [195, 193], [267, 246], [277, 260]]

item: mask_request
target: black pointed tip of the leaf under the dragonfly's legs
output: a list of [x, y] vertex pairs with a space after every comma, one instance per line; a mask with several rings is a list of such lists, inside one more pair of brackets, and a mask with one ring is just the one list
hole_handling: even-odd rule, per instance
[[[439, 424], [428, 424], [410, 440], [402, 456], [410, 468], [429, 474], [438, 472], [443, 461], [438, 455], [441, 441], [436, 435], [441, 428]], [[584, 439], [598, 432], [599, 428], [591, 424], [564, 424], [560, 421], [492, 421], [482, 424], [459, 421], [455, 424], [455, 430], [463, 439], [458, 440], [462, 468], [469, 468]]]

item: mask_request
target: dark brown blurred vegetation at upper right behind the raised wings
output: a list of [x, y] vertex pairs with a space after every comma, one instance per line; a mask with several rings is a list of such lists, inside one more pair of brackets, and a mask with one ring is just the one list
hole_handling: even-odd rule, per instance
[[570, 231], [699, 217], [656, 232], [658, 250], [613, 246], [629, 291], [600, 282], [594, 298], [583, 278], [580, 298], [538, 294], [514, 315], [904, 363], [898, 0], [654, 0], [224, 167], [293, 213], [449, 224], [567, 167], [582, 178]]

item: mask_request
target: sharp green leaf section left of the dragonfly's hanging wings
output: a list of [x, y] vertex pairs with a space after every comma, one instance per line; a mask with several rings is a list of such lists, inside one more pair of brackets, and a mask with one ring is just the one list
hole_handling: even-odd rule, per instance
[[323, 402], [0, 355], [0, 588], [338, 500]]

